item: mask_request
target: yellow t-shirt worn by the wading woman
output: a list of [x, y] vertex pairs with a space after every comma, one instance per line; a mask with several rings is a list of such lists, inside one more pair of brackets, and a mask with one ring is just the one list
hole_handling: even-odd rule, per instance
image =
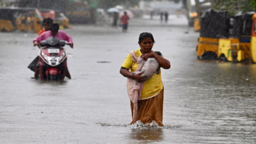
[[[137, 58], [142, 55], [140, 49], [137, 49], [134, 52]], [[122, 67], [129, 69], [130, 72], [134, 72], [139, 65], [137, 62], [132, 61], [131, 54], [128, 54], [124, 63], [122, 64]], [[156, 73], [150, 77], [150, 79], [145, 81], [143, 90], [141, 92], [141, 100], [154, 97], [161, 92], [161, 90], [163, 90], [163, 83], [161, 79], [161, 69], [159, 67], [157, 68]]]

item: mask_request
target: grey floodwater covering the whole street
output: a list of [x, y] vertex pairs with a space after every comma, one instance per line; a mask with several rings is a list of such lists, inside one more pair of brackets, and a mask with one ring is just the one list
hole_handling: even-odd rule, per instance
[[[0, 33], [0, 143], [256, 143], [256, 65], [196, 59], [199, 33], [185, 17], [167, 24], [132, 19], [128, 33], [109, 26], [65, 29], [72, 79], [31, 79], [34, 33]], [[164, 127], [131, 122], [126, 78], [119, 74], [138, 36], [154, 35], [162, 70]]]

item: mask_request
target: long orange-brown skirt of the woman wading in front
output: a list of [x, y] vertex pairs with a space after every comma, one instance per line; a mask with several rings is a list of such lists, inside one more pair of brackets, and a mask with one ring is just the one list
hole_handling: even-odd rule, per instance
[[[163, 125], [163, 103], [164, 103], [164, 89], [150, 99], [138, 101], [138, 117], [137, 120], [143, 124], [150, 124], [153, 120], [159, 125]], [[133, 103], [131, 102], [131, 111], [133, 115]], [[134, 122], [135, 123], [135, 122]]]

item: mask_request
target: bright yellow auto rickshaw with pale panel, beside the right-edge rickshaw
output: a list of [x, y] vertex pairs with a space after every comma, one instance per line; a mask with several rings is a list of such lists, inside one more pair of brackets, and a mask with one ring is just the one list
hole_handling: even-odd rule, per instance
[[222, 61], [252, 61], [251, 36], [254, 12], [235, 15], [230, 19], [229, 36], [221, 38], [218, 58]]

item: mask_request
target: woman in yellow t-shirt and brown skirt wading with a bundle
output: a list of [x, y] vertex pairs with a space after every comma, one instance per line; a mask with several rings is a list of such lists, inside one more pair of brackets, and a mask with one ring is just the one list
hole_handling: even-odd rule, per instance
[[[161, 81], [160, 67], [169, 69], [171, 65], [170, 61], [152, 51], [154, 42], [154, 37], [151, 33], [141, 33], [138, 42], [140, 49], [130, 52], [120, 69], [120, 74], [124, 77], [134, 79], [138, 83], [143, 83], [143, 88], [140, 93], [141, 97], [138, 97], [138, 106], [137, 102], [131, 101], [132, 118], [135, 118], [132, 120], [131, 124], [140, 120], [143, 124], [147, 125], [152, 123], [154, 120], [159, 126], [163, 126], [164, 86]], [[145, 80], [145, 76], [141, 76], [141, 72], [132, 74], [132, 72], [134, 72], [139, 66], [136, 59], [140, 56], [142, 56], [144, 60], [147, 60], [148, 58], [155, 58], [159, 63], [159, 68], [157, 68], [155, 74], [147, 81]], [[127, 84], [127, 91], [129, 93], [128, 85], [129, 84]], [[135, 114], [137, 115], [134, 115], [134, 108], [136, 108]]]

